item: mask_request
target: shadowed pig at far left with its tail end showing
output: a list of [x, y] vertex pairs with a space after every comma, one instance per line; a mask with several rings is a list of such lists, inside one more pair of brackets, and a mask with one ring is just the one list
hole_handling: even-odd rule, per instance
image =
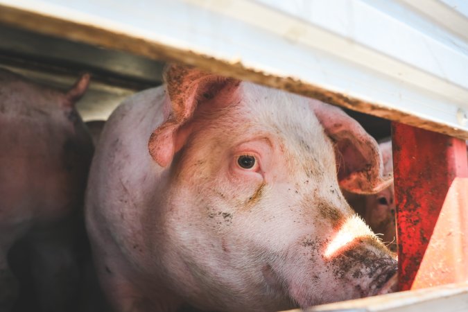
[[88, 83], [84, 74], [61, 92], [0, 69], [0, 311], [10, 311], [18, 295], [8, 251], [20, 240], [33, 278], [23, 286], [35, 288], [35, 311], [71, 311], [78, 279], [74, 243], [85, 231], [94, 152], [75, 103]]

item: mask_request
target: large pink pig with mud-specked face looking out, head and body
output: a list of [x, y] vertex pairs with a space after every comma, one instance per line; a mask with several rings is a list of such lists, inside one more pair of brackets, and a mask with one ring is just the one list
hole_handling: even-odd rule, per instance
[[395, 288], [395, 255], [340, 191], [391, 183], [354, 119], [178, 64], [164, 81], [112, 113], [89, 173], [87, 231], [116, 311], [274, 311]]

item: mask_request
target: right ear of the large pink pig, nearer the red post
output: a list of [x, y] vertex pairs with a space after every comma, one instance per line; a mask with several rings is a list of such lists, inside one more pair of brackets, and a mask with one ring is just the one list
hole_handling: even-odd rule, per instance
[[338, 107], [316, 100], [311, 100], [311, 107], [335, 144], [340, 187], [371, 194], [390, 186], [392, 175], [383, 175], [382, 155], [375, 139]]

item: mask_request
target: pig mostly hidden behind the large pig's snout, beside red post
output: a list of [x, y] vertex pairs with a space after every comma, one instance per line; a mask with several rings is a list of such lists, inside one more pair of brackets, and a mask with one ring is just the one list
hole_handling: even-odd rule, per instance
[[[384, 175], [393, 175], [392, 142], [386, 139], [379, 144], [383, 157]], [[365, 220], [392, 252], [397, 251], [397, 226], [395, 219], [395, 189], [393, 183], [375, 194], [355, 194], [343, 191], [351, 207]]]

